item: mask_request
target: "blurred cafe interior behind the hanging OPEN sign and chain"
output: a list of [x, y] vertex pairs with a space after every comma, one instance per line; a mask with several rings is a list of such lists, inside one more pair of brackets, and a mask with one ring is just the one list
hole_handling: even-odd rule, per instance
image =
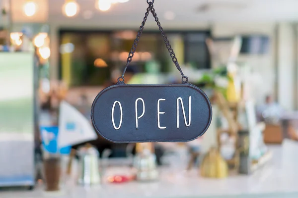
[[[298, 198], [297, 7], [0, 0], [0, 198]], [[181, 84], [171, 47], [211, 102], [206, 133], [117, 144], [96, 132], [92, 102], [119, 83], [132, 46], [125, 83]]]

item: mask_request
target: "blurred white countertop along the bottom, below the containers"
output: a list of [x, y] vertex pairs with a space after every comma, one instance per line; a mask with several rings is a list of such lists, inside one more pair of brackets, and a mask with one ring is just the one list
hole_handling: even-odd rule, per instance
[[[130, 182], [123, 184], [104, 183], [101, 186], [83, 188], [66, 185], [58, 198], [201, 198], [206, 196], [251, 195], [254, 198], [298, 197], [298, 143], [287, 141], [283, 146], [270, 146], [273, 158], [268, 165], [253, 175], [235, 175], [226, 179], [208, 179], [199, 176], [198, 170], [190, 173], [161, 169], [160, 179], [152, 183]], [[178, 173], [177, 173], [178, 172]], [[292, 193], [285, 195], [285, 193]], [[47, 196], [46, 196], [47, 195]], [[246, 195], [246, 196], [245, 196]], [[0, 198], [48, 197], [41, 188], [34, 191], [1, 192]], [[51, 196], [52, 197], [52, 196]], [[265, 196], [266, 197], [266, 196]], [[265, 198], [264, 197], [264, 198]], [[240, 198], [240, 197], [239, 197]], [[242, 198], [242, 196], [241, 196]], [[266, 197], [267, 198], [267, 197]]]

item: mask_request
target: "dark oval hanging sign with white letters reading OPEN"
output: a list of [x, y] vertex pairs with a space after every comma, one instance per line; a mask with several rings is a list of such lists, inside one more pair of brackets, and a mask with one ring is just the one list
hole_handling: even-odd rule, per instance
[[191, 141], [206, 132], [211, 118], [208, 97], [192, 84], [115, 85], [91, 108], [95, 130], [115, 143]]

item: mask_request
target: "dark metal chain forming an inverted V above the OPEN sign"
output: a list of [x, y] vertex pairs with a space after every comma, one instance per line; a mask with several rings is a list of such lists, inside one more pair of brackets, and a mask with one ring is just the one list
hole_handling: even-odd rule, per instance
[[149, 4], [149, 6], [147, 8], [147, 12], [145, 13], [144, 20], [142, 22], [142, 25], [140, 26], [140, 30], [138, 31], [137, 38], [135, 39], [134, 44], [132, 46], [132, 49], [130, 50], [130, 52], [128, 54], [128, 58], [127, 58], [127, 61], [126, 61], [126, 66], [124, 68], [123, 74], [122, 74], [122, 76], [120, 76], [118, 78], [118, 84], [124, 84], [124, 75], [125, 75], [126, 69], [127, 69], [128, 65], [129, 65], [129, 63], [132, 61], [132, 58], [134, 57], [134, 53], [136, 52], [136, 48], [137, 48], [138, 43], [140, 41], [140, 37], [141, 37], [141, 35], [143, 33], [144, 26], [145, 26], [145, 23], [147, 21], [148, 15], [149, 15], [149, 11], [152, 13], [152, 15], [153, 15], [153, 17], [154, 17], [154, 19], [156, 21], [156, 24], [157, 24], [157, 26], [159, 28], [159, 31], [160, 31], [160, 33], [161, 33], [161, 35], [163, 37], [163, 41], [165, 43], [165, 46], [166, 46], [166, 48], [168, 49], [168, 51], [170, 53], [170, 56], [172, 58], [172, 61], [174, 62], [176, 68], [181, 73], [182, 83], [183, 84], [184, 83], [187, 83], [188, 82], [188, 77], [183, 74], [182, 69], [181, 69], [181, 67], [180, 67], [180, 65], [178, 63], [178, 59], [177, 59], [177, 57], [176, 57], [176, 55], [174, 53], [174, 50], [172, 49], [169, 40], [167, 39], [166, 35], [163, 32], [163, 28], [161, 27], [161, 24], [160, 24], [160, 22], [158, 20], [158, 17], [157, 17], [157, 14], [155, 12], [155, 9], [153, 8], [154, 0], [152, 0], [152, 1], [147, 0], [147, 3]]

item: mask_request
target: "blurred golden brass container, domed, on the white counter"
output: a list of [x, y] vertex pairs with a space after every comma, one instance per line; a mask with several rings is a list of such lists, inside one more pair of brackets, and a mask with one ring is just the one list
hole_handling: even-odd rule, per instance
[[201, 165], [201, 176], [209, 178], [225, 178], [228, 176], [228, 167], [217, 148], [211, 148], [204, 156]]

